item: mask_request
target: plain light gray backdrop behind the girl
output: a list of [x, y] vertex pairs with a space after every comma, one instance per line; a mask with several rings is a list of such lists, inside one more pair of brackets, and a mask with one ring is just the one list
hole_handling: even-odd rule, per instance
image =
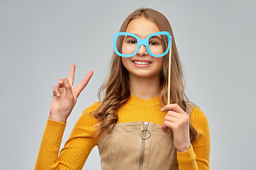
[[[171, 23], [188, 98], [210, 125], [210, 168], [256, 169], [256, 3], [245, 0], [1, 0], [0, 169], [33, 169], [53, 85], [75, 63], [75, 86], [89, 70], [95, 74], [68, 118], [64, 144], [80, 113], [97, 101], [114, 33], [139, 7]], [[97, 147], [84, 169], [100, 169]]]

